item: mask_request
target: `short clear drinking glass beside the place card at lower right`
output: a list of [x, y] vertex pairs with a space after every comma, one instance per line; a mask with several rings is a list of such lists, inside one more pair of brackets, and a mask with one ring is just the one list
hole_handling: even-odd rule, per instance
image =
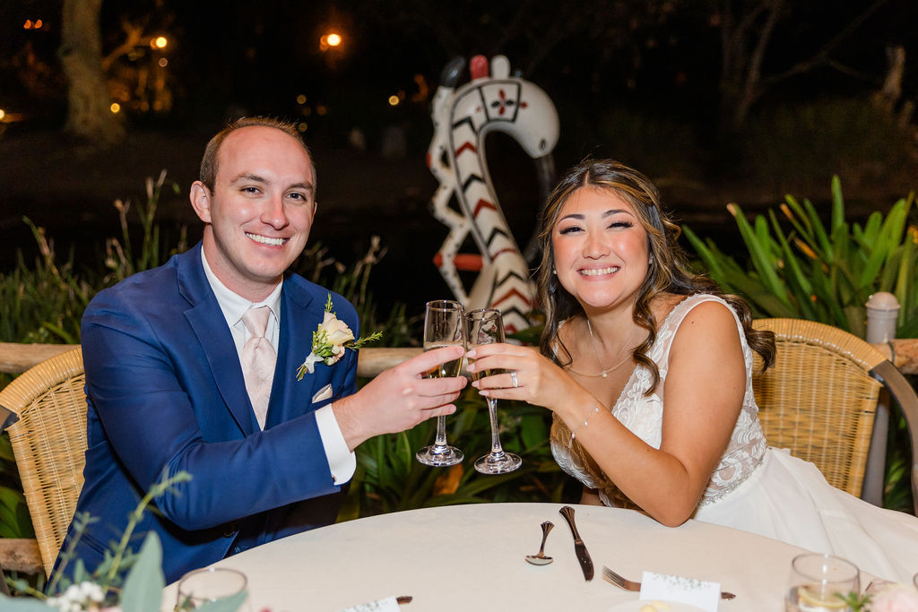
[[842, 612], [850, 594], [860, 593], [860, 573], [854, 563], [830, 554], [810, 552], [790, 562], [787, 612]]

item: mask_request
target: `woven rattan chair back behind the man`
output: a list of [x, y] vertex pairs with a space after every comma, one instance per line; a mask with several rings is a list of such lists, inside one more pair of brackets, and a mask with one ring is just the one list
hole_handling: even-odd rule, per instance
[[83, 488], [83, 385], [83, 353], [75, 349], [39, 363], [0, 392], [0, 405], [19, 417], [7, 431], [46, 574]]

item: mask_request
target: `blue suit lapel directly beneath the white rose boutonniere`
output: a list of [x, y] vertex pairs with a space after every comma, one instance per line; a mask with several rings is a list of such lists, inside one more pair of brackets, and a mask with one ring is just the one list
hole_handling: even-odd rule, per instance
[[[295, 277], [284, 281], [281, 294], [281, 336], [277, 349], [277, 366], [271, 387], [271, 403], [265, 427], [284, 423], [308, 412], [317, 383], [324, 378], [307, 374], [297, 381], [297, 369], [311, 349], [312, 332], [322, 322], [322, 310], [313, 304]], [[310, 305], [315, 307], [309, 308]], [[321, 380], [322, 384], [327, 381]]]

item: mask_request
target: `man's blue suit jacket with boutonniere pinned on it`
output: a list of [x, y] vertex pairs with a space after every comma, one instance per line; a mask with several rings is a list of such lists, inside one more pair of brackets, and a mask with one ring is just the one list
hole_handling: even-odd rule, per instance
[[[192, 480], [155, 501], [135, 533], [162, 540], [167, 582], [193, 568], [335, 520], [331, 479], [314, 412], [356, 389], [354, 351], [296, 380], [328, 290], [284, 281], [274, 386], [258, 428], [226, 319], [207, 284], [198, 244], [165, 265], [95, 296], [83, 317], [88, 403], [85, 484], [77, 512], [99, 520], [76, 546], [93, 571], [129, 513], [163, 473]], [[358, 334], [353, 306], [332, 294]], [[326, 384], [333, 396], [313, 403]], [[73, 525], [64, 542], [73, 537]], [[60, 563], [60, 559], [58, 560]]]

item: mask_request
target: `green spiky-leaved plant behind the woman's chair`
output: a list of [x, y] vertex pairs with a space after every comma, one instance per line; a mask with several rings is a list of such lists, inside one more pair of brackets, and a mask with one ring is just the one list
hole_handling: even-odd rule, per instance
[[899, 300], [897, 336], [918, 332], [918, 229], [906, 228], [914, 194], [896, 202], [884, 216], [873, 212], [861, 226], [845, 219], [841, 182], [832, 179], [828, 227], [816, 207], [791, 195], [779, 206], [786, 230], [771, 209], [750, 223], [739, 206], [727, 209], [736, 220], [749, 255], [744, 267], [683, 227], [707, 272], [726, 290], [744, 295], [759, 317], [821, 321], [864, 338], [870, 295], [888, 291]]

